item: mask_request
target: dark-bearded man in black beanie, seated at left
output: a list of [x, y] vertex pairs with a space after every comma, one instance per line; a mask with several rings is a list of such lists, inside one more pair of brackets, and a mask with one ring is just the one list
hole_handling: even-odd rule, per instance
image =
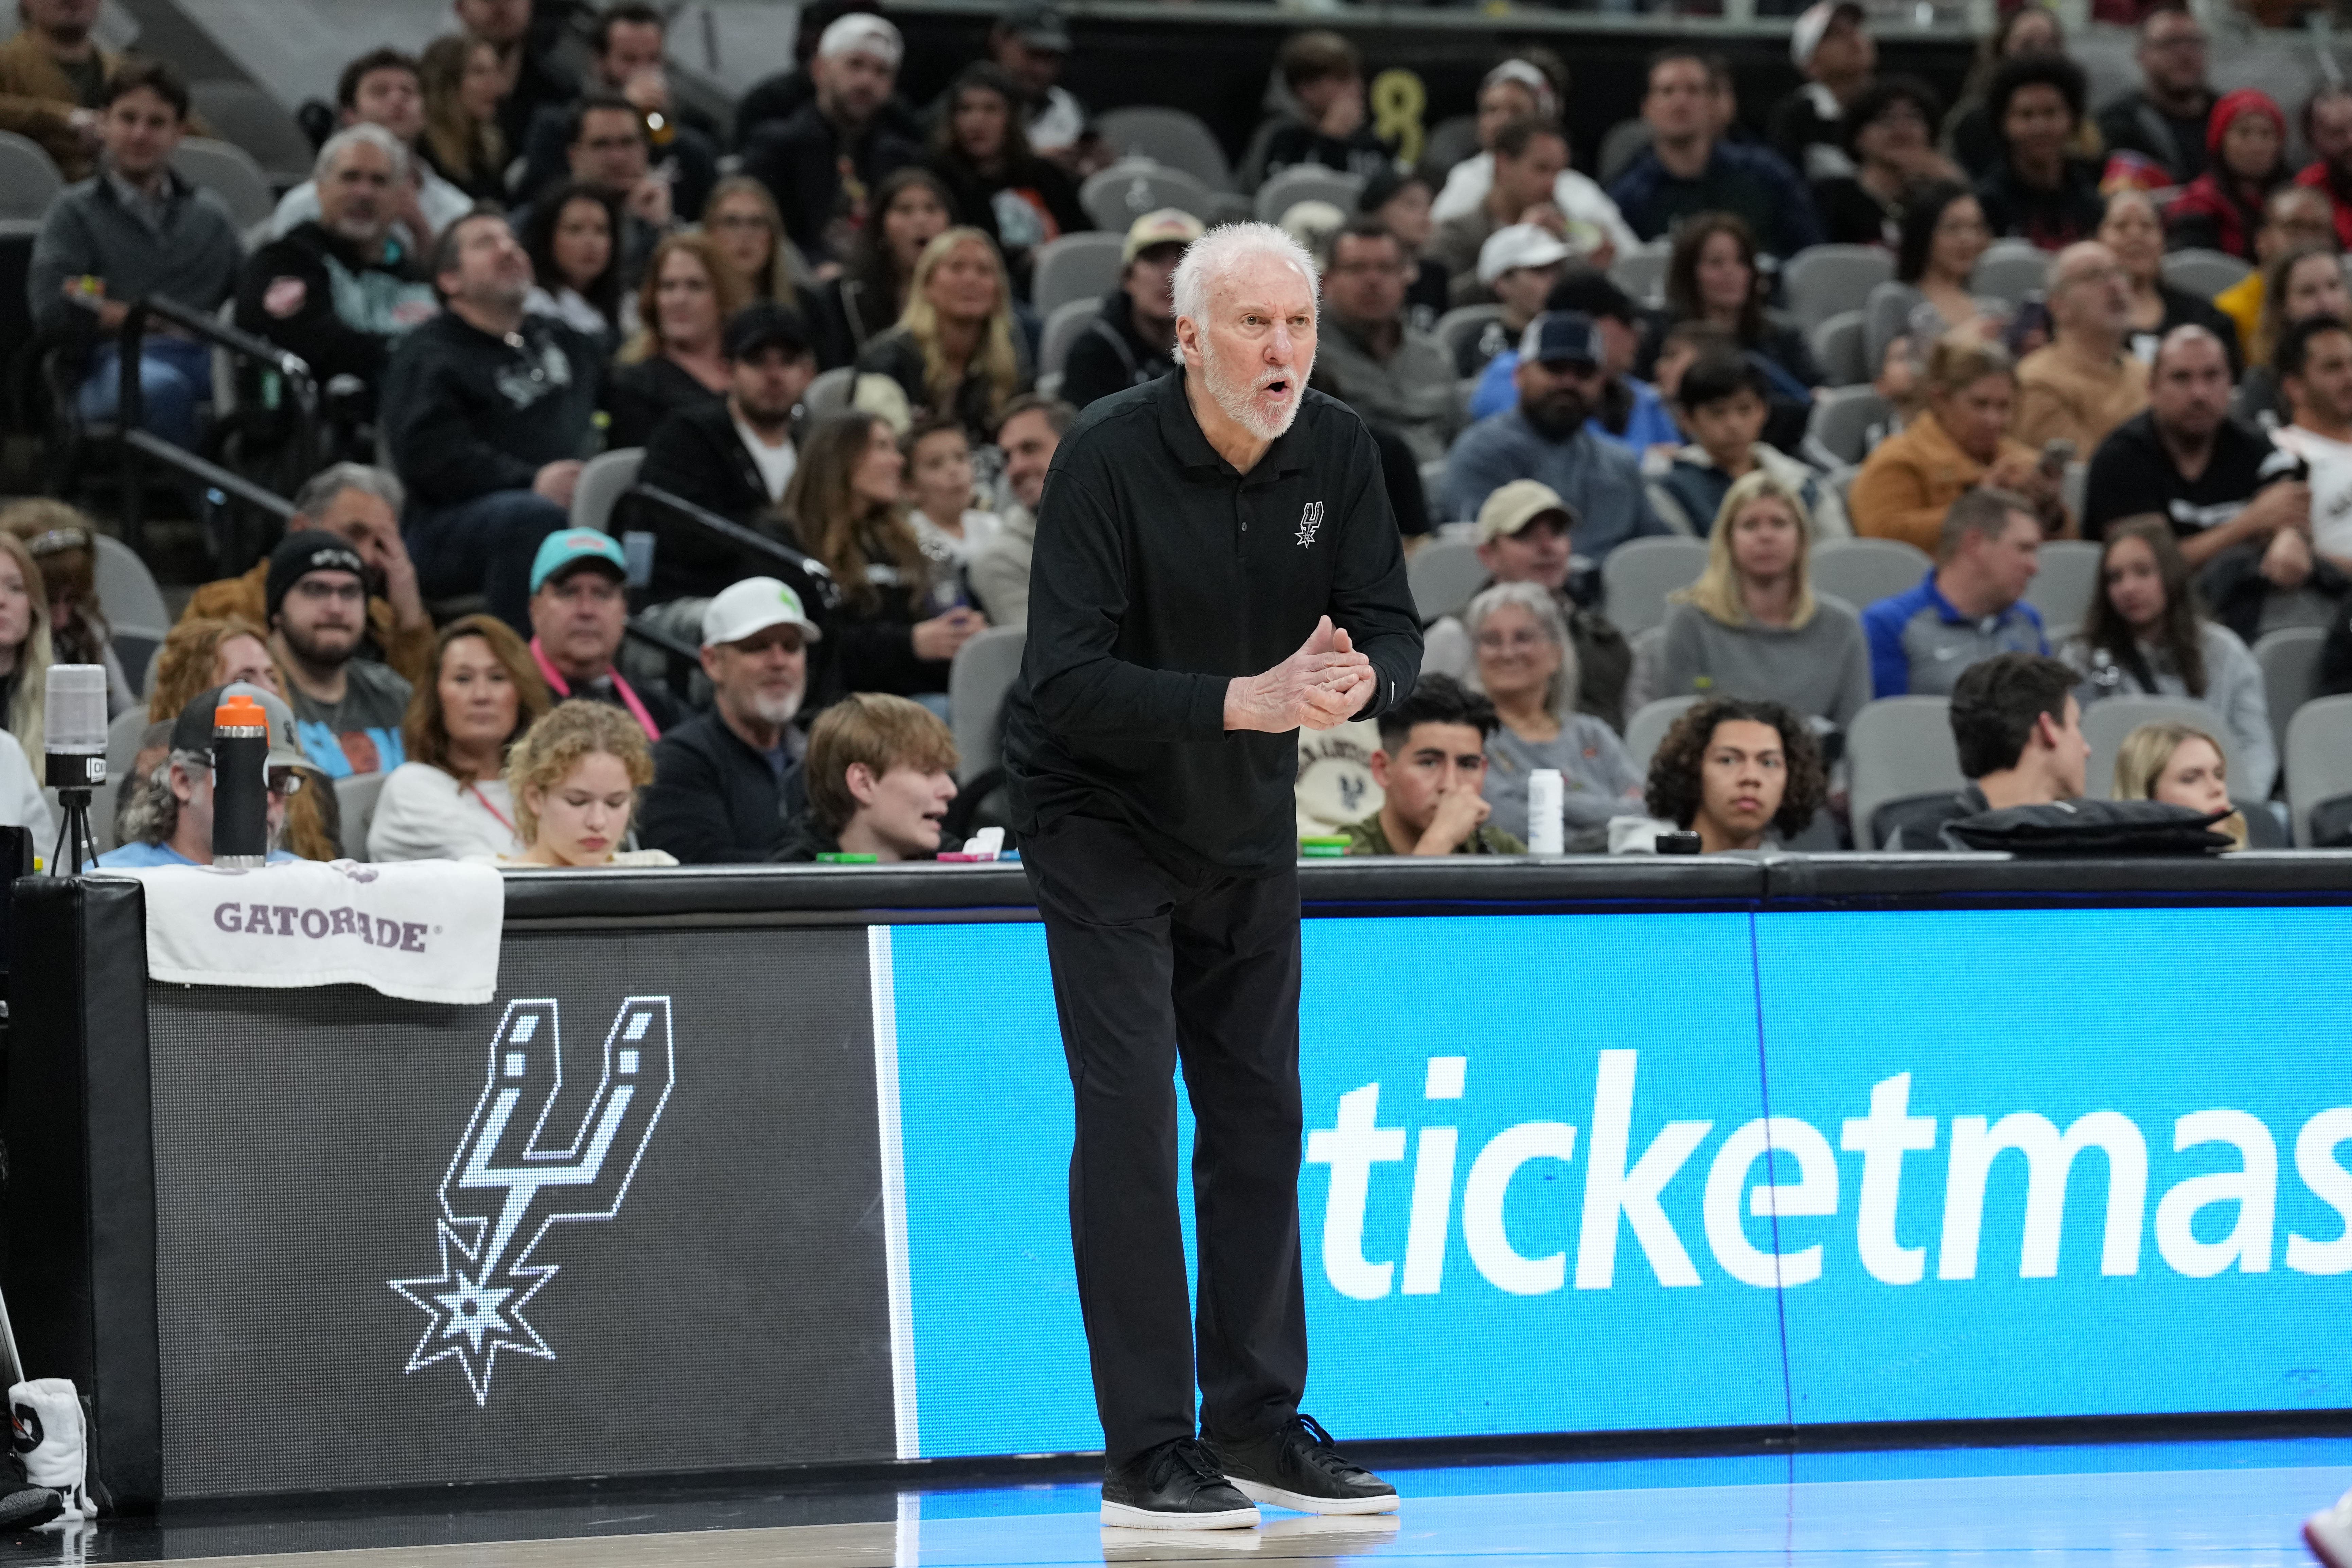
[[270, 550], [270, 654], [292, 689], [294, 733], [327, 778], [390, 773], [407, 762], [409, 684], [372, 658], [367, 562], [334, 534], [287, 534]]

